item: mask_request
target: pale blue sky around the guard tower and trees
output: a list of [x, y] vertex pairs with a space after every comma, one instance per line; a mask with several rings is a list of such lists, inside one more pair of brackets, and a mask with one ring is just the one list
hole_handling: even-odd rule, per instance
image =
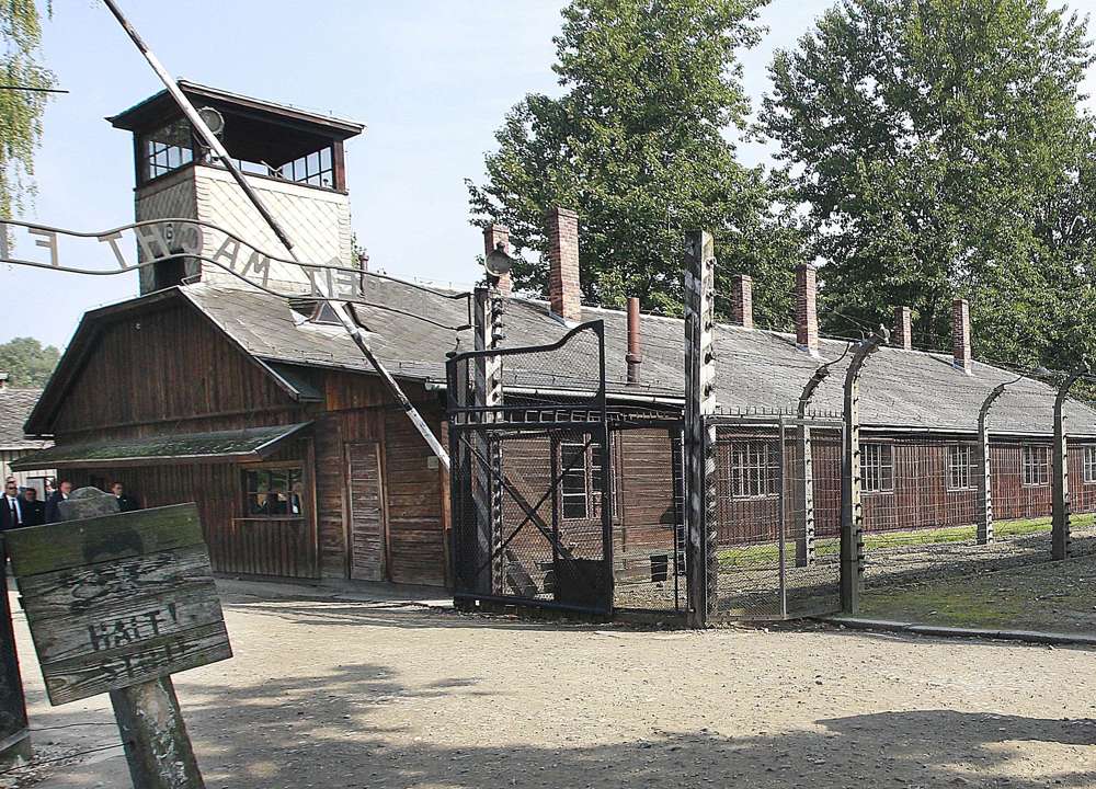
[[[347, 147], [354, 229], [370, 266], [406, 277], [472, 282], [479, 231], [464, 179], [481, 180], [504, 113], [557, 90], [551, 38], [561, 0], [121, 0], [175, 77], [332, 112], [367, 124]], [[44, 4], [44, 3], [43, 3]], [[792, 46], [829, 0], [774, 0], [762, 45], [743, 55], [756, 106], [775, 48]], [[1072, 2], [1083, 13], [1096, 0]], [[160, 90], [94, 0], [54, 2], [45, 57], [61, 88], [37, 158], [38, 196], [21, 218], [100, 230], [133, 218], [133, 144], [103, 118]], [[764, 161], [745, 146], [742, 159]], [[0, 342], [64, 346], [82, 312], [137, 291], [136, 277], [0, 267]], [[14, 295], [14, 297], [13, 297]]]

